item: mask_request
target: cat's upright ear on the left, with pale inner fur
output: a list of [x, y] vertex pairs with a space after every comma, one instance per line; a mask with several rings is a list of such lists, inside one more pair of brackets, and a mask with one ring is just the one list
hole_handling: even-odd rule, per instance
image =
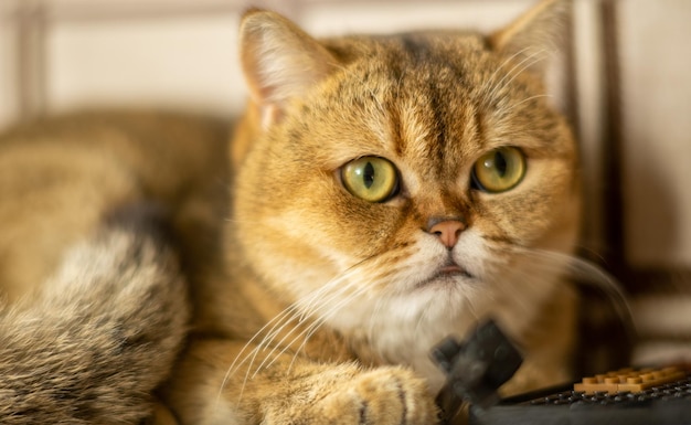
[[315, 39], [278, 13], [252, 9], [240, 29], [241, 61], [252, 99], [266, 127], [286, 103], [336, 70], [337, 60]]

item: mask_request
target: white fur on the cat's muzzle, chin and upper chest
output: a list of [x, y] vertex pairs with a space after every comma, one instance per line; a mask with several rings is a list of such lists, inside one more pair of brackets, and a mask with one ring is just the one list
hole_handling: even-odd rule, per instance
[[[436, 394], [444, 375], [429, 359], [432, 348], [448, 336], [466, 337], [489, 308], [492, 297], [481, 278], [487, 251], [481, 238], [467, 232], [453, 258], [471, 277], [454, 275], [429, 281], [448, 252], [436, 237], [421, 238], [417, 246], [407, 261], [411, 266], [390, 276], [385, 289], [366, 291], [328, 322], [347, 334], [366, 338], [384, 361], [411, 365], [427, 378]], [[368, 280], [366, 276], [353, 278]]]

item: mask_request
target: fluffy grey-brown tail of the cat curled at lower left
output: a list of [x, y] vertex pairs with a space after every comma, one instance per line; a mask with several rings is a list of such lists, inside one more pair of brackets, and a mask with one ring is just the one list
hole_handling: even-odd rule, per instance
[[184, 336], [184, 294], [177, 258], [146, 235], [115, 227], [71, 248], [35, 299], [0, 312], [1, 422], [149, 416]]

